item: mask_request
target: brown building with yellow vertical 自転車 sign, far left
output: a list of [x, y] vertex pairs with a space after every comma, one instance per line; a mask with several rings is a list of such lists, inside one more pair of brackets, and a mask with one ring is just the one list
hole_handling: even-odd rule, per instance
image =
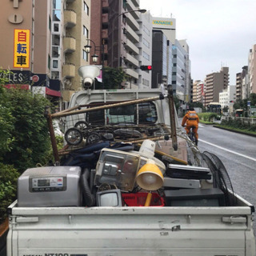
[[61, 72], [54, 72], [52, 58], [59, 39], [54, 21], [61, 17], [54, 7], [57, 3], [50, 0], [27, 0], [2, 2], [0, 8], [0, 65], [12, 72], [9, 83], [39, 88], [53, 102], [61, 97]]

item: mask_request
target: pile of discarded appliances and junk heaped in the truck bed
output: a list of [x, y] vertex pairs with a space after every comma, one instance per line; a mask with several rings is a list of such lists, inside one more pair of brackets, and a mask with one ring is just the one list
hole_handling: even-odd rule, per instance
[[[56, 163], [22, 174], [18, 206], [235, 206], [221, 160], [201, 153], [178, 126], [171, 89], [152, 92], [105, 102], [95, 92], [86, 102], [83, 91], [70, 109], [46, 110]], [[62, 150], [54, 119], [62, 124]], [[32, 192], [48, 193], [25, 193], [28, 179]]]

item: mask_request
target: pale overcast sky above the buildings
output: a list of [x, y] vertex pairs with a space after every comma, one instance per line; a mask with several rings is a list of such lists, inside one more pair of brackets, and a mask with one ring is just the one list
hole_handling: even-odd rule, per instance
[[152, 16], [176, 19], [176, 38], [190, 46], [191, 76], [230, 67], [230, 85], [256, 44], [256, 0], [140, 0]]

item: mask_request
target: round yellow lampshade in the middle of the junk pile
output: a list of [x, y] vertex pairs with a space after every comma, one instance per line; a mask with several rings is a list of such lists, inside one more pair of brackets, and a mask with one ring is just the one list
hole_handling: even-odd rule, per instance
[[153, 163], [146, 163], [136, 175], [136, 182], [143, 190], [158, 190], [163, 185], [162, 171]]

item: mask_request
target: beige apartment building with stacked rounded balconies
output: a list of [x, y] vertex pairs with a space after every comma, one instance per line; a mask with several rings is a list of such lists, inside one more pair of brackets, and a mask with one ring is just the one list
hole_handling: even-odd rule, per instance
[[70, 95], [82, 87], [78, 68], [90, 63], [86, 53], [87, 38], [90, 38], [90, 0], [54, 0], [63, 6], [63, 63], [62, 99], [68, 102]]

